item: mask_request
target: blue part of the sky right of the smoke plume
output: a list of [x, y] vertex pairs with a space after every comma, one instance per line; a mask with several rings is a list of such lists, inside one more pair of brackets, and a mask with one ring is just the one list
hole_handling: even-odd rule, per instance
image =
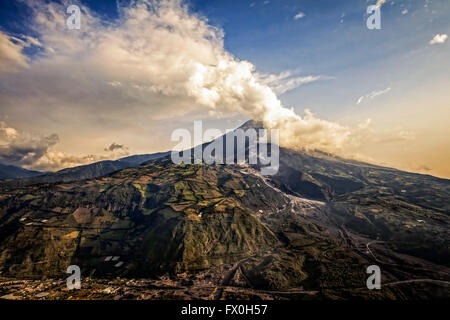
[[[81, 3], [105, 21], [118, 18], [114, 0]], [[441, 68], [440, 59], [433, 58], [435, 52], [420, 51], [435, 34], [448, 33], [450, 29], [450, 8], [445, 0], [387, 1], [381, 8], [381, 30], [368, 30], [365, 25], [366, 7], [376, 1], [190, 0], [187, 3], [194, 12], [224, 30], [225, 48], [229, 52], [251, 61], [258, 71], [298, 70], [302, 74], [335, 78], [303, 86], [281, 97], [288, 105], [301, 108], [296, 106], [301, 100], [324, 116], [333, 117], [358, 98], [348, 94], [349, 86], [356, 95], [358, 89], [361, 94], [382, 90], [402, 80], [396, 73], [403, 72], [408, 63], [426, 64], [431, 73], [436, 67]], [[299, 12], [304, 17], [294, 19]], [[13, 34], [33, 34], [24, 23], [29, 14], [20, 1], [5, 1], [0, 11], [0, 28]], [[36, 48], [25, 50], [32, 56]], [[418, 52], [411, 54], [411, 51]], [[444, 57], [448, 57], [448, 50], [446, 53]], [[448, 70], [447, 67], [442, 71]], [[324, 86], [330, 89], [329, 95], [318, 95]]]

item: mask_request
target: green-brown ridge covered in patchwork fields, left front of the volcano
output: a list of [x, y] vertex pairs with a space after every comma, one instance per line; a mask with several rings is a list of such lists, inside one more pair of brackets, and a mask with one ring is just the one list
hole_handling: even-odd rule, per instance
[[[217, 187], [219, 181], [224, 187]], [[1, 207], [9, 209], [1, 213], [5, 222], [1, 228], [4, 250], [0, 261], [6, 265], [17, 265], [20, 261], [26, 264], [28, 259], [34, 260], [26, 258], [28, 255], [39, 252], [50, 255], [40, 259], [54, 259], [56, 252], [48, 250], [45, 241], [35, 244], [22, 239], [20, 245], [16, 244], [17, 232], [25, 238], [31, 235], [39, 238], [37, 234], [45, 234], [47, 226], [67, 231], [65, 235], [60, 234], [60, 240], [65, 246], [71, 243], [68, 249], [73, 255], [71, 259], [79, 260], [82, 265], [89, 265], [84, 257], [131, 255], [129, 259], [135, 272], [146, 275], [161, 268], [165, 271], [196, 269], [214, 264], [215, 259], [222, 261], [230, 255], [255, 252], [278, 240], [241, 205], [239, 199], [249, 188], [246, 183], [227, 168], [186, 168], [166, 161], [164, 166], [148, 164], [89, 182], [14, 192], [5, 195], [2, 201]], [[233, 189], [236, 186], [242, 193]], [[248, 192], [250, 197], [252, 191]], [[270, 196], [277, 196], [273, 193], [269, 190]], [[258, 192], [257, 196], [261, 194]], [[68, 241], [71, 232], [80, 228], [83, 229], [79, 235], [81, 242], [77, 244], [76, 237]], [[94, 231], [89, 231], [92, 228]], [[8, 238], [8, 233], [14, 237]], [[108, 244], [109, 241], [120, 241], [120, 251]], [[28, 245], [34, 249], [26, 250], [24, 246]], [[26, 254], [21, 256], [19, 252]], [[151, 261], [150, 265], [146, 261]], [[60, 262], [55, 263], [57, 267]], [[42, 267], [43, 272], [54, 270], [50, 265]], [[28, 269], [21, 270], [26, 273]]]

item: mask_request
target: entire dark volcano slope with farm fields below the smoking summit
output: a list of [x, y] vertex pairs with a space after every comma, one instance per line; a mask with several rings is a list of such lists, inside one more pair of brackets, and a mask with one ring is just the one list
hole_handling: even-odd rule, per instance
[[[248, 124], [247, 124], [248, 125]], [[280, 149], [280, 170], [175, 165], [0, 195], [0, 271], [189, 279], [213, 298], [448, 297], [449, 181]], [[380, 266], [383, 289], [366, 288]], [[412, 281], [412, 282], [411, 282]], [[447, 293], [446, 293], [447, 292]]]

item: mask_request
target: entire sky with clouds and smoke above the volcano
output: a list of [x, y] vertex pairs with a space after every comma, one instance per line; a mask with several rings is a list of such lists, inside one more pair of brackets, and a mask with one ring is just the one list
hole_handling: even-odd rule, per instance
[[69, 2], [2, 4], [0, 163], [57, 170], [255, 119], [282, 146], [450, 178], [450, 4], [388, 0], [368, 30], [372, 2], [82, 1], [80, 30]]

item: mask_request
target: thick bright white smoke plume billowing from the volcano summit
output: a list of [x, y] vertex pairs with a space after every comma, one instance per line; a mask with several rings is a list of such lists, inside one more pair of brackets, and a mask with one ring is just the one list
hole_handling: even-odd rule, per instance
[[[213, 115], [238, 112], [279, 128], [281, 144], [288, 147], [338, 152], [350, 142], [349, 128], [318, 119], [310, 111], [300, 116], [282, 106], [275, 93], [316, 78], [291, 79], [285, 88], [279, 80], [289, 75], [281, 75], [272, 79], [276, 84], [272, 89], [260, 81], [253, 64], [224, 49], [222, 30], [179, 1], [139, 1], [121, 13], [116, 27], [98, 27], [90, 17], [97, 28], [88, 26], [87, 43], [71, 54], [91, 47], [83, 58], [109, 74], [114, 87], [188, 97]], [[64, 40], [48, 42], [58, 51], [66, 47]]]

